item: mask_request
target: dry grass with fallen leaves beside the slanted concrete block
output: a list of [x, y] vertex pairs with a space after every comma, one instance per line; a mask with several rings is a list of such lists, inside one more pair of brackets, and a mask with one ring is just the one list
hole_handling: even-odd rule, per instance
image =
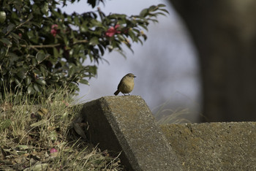
[[118, 156], [75, 133], [80, 105], [72, 103], [63, 92], [40, 104], [12, 96], [2, 101], [0, 170], [122, 170]]

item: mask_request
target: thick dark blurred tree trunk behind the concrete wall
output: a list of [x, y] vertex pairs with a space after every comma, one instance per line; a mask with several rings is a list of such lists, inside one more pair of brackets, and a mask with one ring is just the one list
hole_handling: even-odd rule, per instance
[[256, 1], [170, 2], [199, 53], [202, 121], [256, 121]]

